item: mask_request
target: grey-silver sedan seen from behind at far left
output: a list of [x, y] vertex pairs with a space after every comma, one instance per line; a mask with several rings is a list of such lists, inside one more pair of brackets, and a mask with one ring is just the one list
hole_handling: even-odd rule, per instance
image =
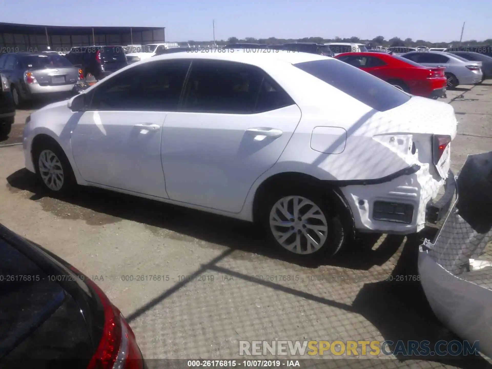
[[43, 53], [3, 54], [0, 72], [10, 82], [16, 106], [25, 100], [68, 95], [81, 77], [81, 70], [65, 57]]

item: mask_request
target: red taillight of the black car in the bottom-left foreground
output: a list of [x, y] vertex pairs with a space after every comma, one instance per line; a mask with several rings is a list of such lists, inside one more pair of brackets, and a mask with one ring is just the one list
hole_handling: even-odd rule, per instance
[[87, 369], [112, 369], [115, 363], [121, 369], [143, 369], [135, 335], [118, 307], [111, 304], [104, 292], [90, 278], [85, 277], [84, 281], [99, 296], [104, 308], [102, 337]]

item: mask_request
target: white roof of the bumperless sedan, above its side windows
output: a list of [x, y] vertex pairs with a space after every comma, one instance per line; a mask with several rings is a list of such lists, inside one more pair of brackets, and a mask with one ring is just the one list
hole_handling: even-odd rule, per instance
[[[275, 64], [277, 62], [287, 62], [287, 63], [302, 63], [311, 62], [316, 60], [331, 59], [322, 55], [309, 54], [309, 53], [292, 53], [288, 51], [278, 50], [275, 52], [245, 52], [244, 49], [230, 49], [234, 50], [229, 53], [173, 53], [173, 54], [162, 54], [153, 58], [155, 60], [167, 60], [167, 59], [203, 59], [203, 60], [217, 60], [217, 61], [228, 61], [228, 62], [243, 62], [252, 65], [265, 65], [265, 64]], [[142, 62], [148, 62], [147, 60]]]

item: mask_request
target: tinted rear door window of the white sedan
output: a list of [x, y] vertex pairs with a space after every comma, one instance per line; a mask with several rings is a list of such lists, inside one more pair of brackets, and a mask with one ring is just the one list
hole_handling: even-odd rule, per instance
[[248, 114], [294, 102], [259, 68], [235, 62], [193, 62], [184, 109], [191, 112]]

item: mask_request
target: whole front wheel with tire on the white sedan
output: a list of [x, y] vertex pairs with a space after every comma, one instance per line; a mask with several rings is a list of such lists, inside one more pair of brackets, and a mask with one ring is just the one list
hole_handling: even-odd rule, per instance
[[33, 150], [39, 182], [51, 193], [66, 194], [76, 185], [70, 162], [55, 143], [43, 142]]

